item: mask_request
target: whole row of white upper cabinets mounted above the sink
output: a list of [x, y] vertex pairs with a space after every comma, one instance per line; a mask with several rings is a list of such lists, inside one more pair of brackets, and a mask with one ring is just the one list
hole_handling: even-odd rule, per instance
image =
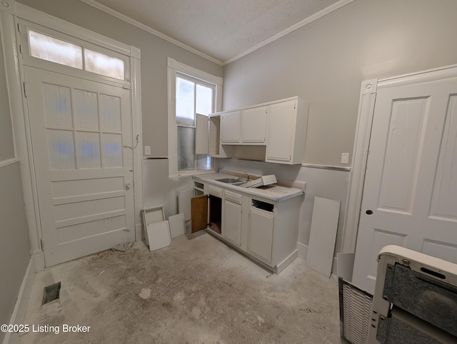
[[229, 158], [234, 156], [236, 146], [264, 146], [257, 148], [263, 148], [264, 161], [268, 163], [301, 164], [307, 125], [308, 102], [298, 97], [213, 113], [209, 154]]

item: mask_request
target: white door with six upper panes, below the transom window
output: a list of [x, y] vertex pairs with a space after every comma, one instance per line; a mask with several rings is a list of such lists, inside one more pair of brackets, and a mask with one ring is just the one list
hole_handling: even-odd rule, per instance
[[46, 266], [134, 241], [130, 91], [24, 70]]

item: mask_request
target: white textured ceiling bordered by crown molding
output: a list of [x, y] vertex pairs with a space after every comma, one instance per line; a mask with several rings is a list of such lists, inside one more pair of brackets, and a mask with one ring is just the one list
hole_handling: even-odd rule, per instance
[[92, 5], [96, 3], [104, 5], [221, 62], [236, 58], [328, 6], [341, 2], [341, 0], [82, 1]]

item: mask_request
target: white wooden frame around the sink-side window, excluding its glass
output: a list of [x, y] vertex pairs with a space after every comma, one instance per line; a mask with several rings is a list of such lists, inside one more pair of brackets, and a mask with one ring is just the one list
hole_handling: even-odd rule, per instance
[[[214, 159], [212, 158], [210, 170], [178, 171], [178, 124], [176, 123], [176, 77], [187, 76], [189, 79], [203, 81], [202, 84], [215, 85], [215, 111], [222, 108], [222, 81], [219, 76], [200, 71], [191, 66], [186, 66], [180, 62], [168, 58], [168, 120], [169, 120], [169, 177], [194, 176], [197, 174], [214, 173]], [[197, 166], [196, 166], [197, 168]]]

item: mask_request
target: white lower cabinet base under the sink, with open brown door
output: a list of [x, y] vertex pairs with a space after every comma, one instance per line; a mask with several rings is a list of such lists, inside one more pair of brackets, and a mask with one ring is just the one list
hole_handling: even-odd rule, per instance
[[274, 201], [201, 178], [194, 181], [194, 189], [204, 195], [191, 199], [190, 234], [205, 229], [274, 273], [298, 256], [303, 194]]

